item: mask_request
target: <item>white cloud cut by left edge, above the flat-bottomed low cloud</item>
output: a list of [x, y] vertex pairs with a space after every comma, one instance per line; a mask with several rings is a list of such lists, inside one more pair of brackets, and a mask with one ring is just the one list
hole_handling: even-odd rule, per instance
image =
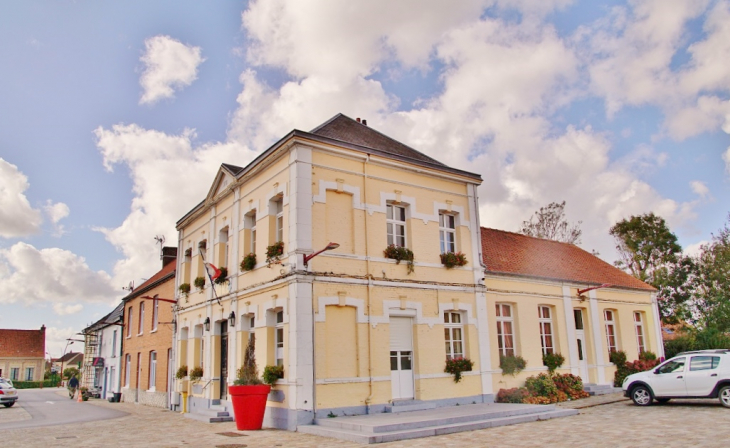
[[17, 166], [0, 158], [0, 237], [28, 236], [40, 230], [41, 214], [25, 196], [29, 186]]

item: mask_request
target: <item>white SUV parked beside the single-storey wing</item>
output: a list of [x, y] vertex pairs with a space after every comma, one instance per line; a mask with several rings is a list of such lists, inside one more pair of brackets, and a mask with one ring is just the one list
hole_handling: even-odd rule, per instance
[[638, 406], [672, 398], [717, 398], [730, 408], [730, 350], [680, 353], [652, 370], [627, 376], [621, 388]]

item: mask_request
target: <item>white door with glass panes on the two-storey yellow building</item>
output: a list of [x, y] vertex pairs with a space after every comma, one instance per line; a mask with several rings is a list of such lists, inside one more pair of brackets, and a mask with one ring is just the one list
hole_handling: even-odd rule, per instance
[[413, 398], [413, 324], [390, 318], [390, 382], [394, 400]]

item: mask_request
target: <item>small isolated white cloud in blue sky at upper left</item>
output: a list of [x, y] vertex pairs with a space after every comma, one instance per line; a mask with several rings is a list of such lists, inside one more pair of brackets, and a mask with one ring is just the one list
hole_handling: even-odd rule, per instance
[[205, 59], [200, 47], [185, 45], [170, 36], [154, 36], [145, 40], [145, 64], [139, 83], [144, 89], [140, 104], [154, 104], [172, 98], [198, 78], [198, 66]]

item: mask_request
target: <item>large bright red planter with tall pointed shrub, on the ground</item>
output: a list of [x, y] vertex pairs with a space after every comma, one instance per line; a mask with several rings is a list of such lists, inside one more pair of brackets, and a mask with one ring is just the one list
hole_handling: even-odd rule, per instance
[[271, 392], [271, 386], [262, 384], [258, 377], [255, 344], [256, 338], [252, 335], [248, 340], [243, 366], [236, 372], [236, 381], [232, 386], [228, 386], [228, 394], [233, 401], [233, 413], [236, 416], [236, 429], [239, 431], [261, 429], [266, 411], [266, 399]]

